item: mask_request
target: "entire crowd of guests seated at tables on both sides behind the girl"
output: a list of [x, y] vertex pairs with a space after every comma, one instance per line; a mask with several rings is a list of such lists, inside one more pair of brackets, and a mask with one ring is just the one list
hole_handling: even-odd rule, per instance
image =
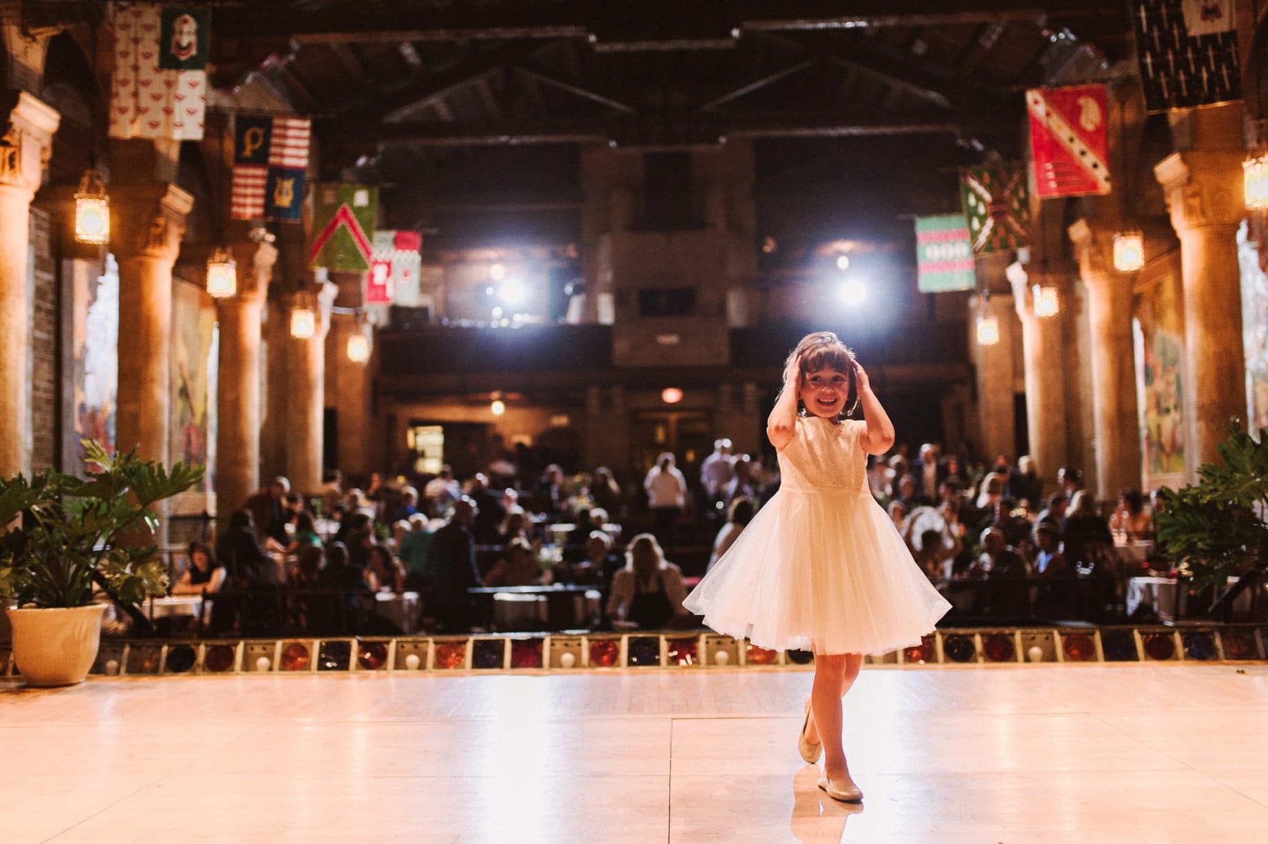
[[[508, 478], [496, 464], [465, 478], [444, 466], [416, 484], [373, 473], [364, 488], [345, 488], [331, 473], [309, 499], [276, 478], [231, 515], [214, 551], [190, 549], [172, 591], [219, 593], [208, 630], [224, 635], [269, 625], [326, 632], [318, 627], [336, 622], [377, 630], [380, 592], [417, 593], [420, 630], [464, 632], [491, 623], [482, 588], [552, 584], [598, 591], [600, 623], [612, 629], [697, 623], [681, 606], [694, 578], [671, 561], [680, 558], [670, 511], [683, 516], [686, 502], [709, 526], [709, 545], [691, 569], [701, 575], [777, 490], [777, 464], [732, 454], [730, 441], [718, 440], [689, 483], [667, 456], [644, 484], [630, 479], [625, 489], [605, 466], [567, 475], [558, 464], [529, 478]], [[988, 465], [926, 444], [913, 459], [899, 446], [871, 459], [867, 483], [921, 569], [966, 611], [1071, 617], [1060, 582], [1104, 569], [1111, 531], [1153, 532], [1139, 492], [1125, 490], [1107, 520], [1077, 470], [1063, 469], [1045, 498], [1028, 457], [1013, 466], [999, 455]], [[621, 528], [631, 526], [637, 536], [626, 547]], [[1028, 592], [974, 582], [1016, 582]], [[260, 592], [283, 594], [252, 597]], [[297, 597], [303, 593], [312, 599]]]

